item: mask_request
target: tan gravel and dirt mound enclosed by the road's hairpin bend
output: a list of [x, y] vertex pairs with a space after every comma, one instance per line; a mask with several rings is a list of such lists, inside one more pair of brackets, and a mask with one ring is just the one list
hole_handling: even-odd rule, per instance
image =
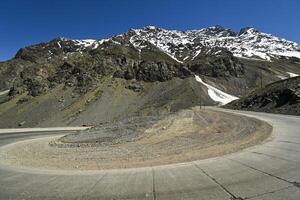
[[68, 170], [163, 165], [232, 153], [263, 141], [272, 130], [270, 125], [253, 118], [199, 107], [148, 119], [142, 126], [139, 120], [136, 126], [133, 119], [118, 128], [111, 124], [111, 129], [105, 125], [94, 132], [61, 139], [9, 145], [0, 151], [1, 162]]

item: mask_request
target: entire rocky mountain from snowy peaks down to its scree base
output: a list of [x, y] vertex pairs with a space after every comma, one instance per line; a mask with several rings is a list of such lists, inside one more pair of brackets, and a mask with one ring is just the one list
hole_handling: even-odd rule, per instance
[[0, 96], [0, 126], [36, 126], [53, 116], [65, 123], [102, 116], [100, 123], [129, 113], [217, 105], [227, 102], [224, 93], [236, 98], [300, 74], [299, 49], [253, 28], [237, 33], [220, 26], [184, 32], [149, 26], [102, 40], [56, 38], [0, 63], [0, 92], [9, 90]]

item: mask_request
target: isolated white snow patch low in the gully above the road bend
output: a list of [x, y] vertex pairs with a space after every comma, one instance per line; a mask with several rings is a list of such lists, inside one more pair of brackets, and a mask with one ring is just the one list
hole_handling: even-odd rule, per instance
[[205, 85], [207, 87], [207, 92], [209, 97], [214, 100], [215, 102], [219, 102], [221, 105], [225, 105], [231, 101], [234, 101], [238, 99], [238, 97], [235, 97], [233, 95], [227, 94], [207, 83], [205, 83], [199, 76], [195, 75], [196, 81], [199, 83]]

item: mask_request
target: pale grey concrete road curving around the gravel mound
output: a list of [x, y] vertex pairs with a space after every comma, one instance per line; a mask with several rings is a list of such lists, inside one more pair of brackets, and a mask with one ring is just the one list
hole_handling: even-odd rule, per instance
[[[168, 166], [89, 173], [0, 167], [0, 199], [299, 200], [300, 117], [244, 114], [272, 124], [274, 139], [239, 153]], [[34, 137], [41, 133], [1, 134], [0, 146]]]

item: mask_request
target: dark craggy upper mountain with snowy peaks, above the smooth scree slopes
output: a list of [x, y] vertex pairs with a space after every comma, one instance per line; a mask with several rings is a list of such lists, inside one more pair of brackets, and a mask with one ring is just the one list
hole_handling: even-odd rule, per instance
[[0, 88], [42, 93], [66, 83], [86, 91], [103, 76], [153, 82], [199, 75], [222, 85], [243, 83], [246, 89], [239, 94], [257, 85], [262, 70], [269, 83], [300, 74], [299, 64], [299, 44], [254, 28], [176, 31], [147, 26], [107, 39], [56, 38], [22, 48], [0, 63]]

